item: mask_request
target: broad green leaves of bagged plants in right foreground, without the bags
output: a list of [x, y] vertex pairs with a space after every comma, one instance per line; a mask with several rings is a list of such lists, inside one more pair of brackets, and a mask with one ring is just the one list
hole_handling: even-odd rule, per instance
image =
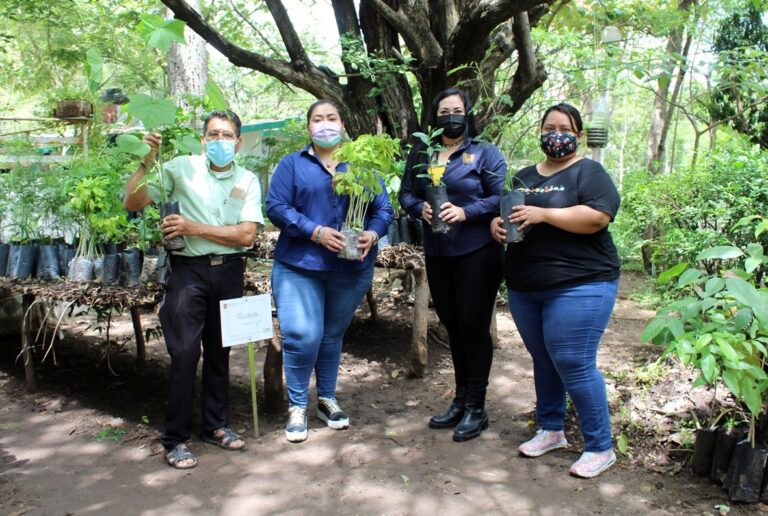
[[[740, 225], [754, 227], [755, 239], [768, 231], [765, 217], [745, 218]], [[712, 260], [719, 267], [707, 273], [704, 265]], [[679, 299], [659, 310], [642, 339], [666, 345], [665, 354], [697, 368], [694, 386], [722, 382], [754, 421], [768, 390], [768, 289], [758, 279], [768, 258], [762, 245], [751, 242], [747, 253], [720, 246], [705, 249], [696, 261], [699, 266], [681, 263], [660, 275], [660, 282], [674, 283]]]

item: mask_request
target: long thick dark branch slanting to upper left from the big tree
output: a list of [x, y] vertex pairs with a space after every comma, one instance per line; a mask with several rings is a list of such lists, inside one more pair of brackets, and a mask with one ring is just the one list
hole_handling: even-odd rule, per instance
[[[330, 98], [343, 103], [341, 86], [318, 70], [311, 62], [280, 61], [246, 50], [217, 32], [184, 0], [162, 0], [162, 2], [173, 11], [176, 18], [186, 22], [190, 29], [226, 56], [235, 66], [257, 70], [284, 83], [293, 84], [316, 97]], [[287, 22], [290, 23], [290, 20]], [[287, 45], [286, 48], [288, 48]], [[289, 49], [289, 53], [291, 51], [296, 51], [296, 48]]]

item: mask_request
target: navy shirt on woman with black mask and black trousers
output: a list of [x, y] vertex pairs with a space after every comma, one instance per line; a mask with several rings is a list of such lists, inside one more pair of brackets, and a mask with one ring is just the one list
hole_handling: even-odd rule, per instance
[[464, 209], [467, 220], [451, 224], [446, 234], [432, 233], [421, 217], [430, 180], [416, 176], [426, 173], [426, 167], [418, 166], [425, 162], [423, 145], [415, 145], [408, 155], [399, 197], [406, 213], [424, 224], [424, 252], [433, 256], [461, 256], [490, 242], [490, 222], [499, 215], [499, 193], [507, 173], [507, 163], [499, 149], [468, 139], [451, 154], [443, 183], [448, 200]]

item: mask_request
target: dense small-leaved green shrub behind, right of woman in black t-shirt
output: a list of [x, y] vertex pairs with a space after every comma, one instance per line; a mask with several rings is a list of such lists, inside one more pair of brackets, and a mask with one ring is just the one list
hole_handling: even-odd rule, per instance
[[[644, 249], [664, 270], [693, 262], [709, 247], [746, 250], [753, 234], [737, 222], [761, 213], [768, 213], [768, 155], [755, 146], [730, 145], [695, 168], [628, 174], [612, 232], [623, 257]], [[760, 243], [768, 243], [766, 235]], [[714, 262], [704, 263], [712, 272]]]

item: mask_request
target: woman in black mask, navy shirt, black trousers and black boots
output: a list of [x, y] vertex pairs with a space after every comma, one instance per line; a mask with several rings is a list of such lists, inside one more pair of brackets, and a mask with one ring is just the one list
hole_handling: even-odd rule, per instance
[[[473, 439], [488, 428], [485, 395], [493, 360], [490, 325], [501, 283], [503, 248], [488, 233], [499, 212], [499, 192], [507, 164], [499, 150], [475, 139], [478, 134], [467, 96], [451, 88], [432, 101], [429, 126], [442, 128], [446, 165], [442, 180], [448, 202], [426, 202], [427, 156], [416, 144], [408, 156], [400, 190], [400, 205], [412, 218], [424, 221], [427, 280], [435, 311], [448, 330], [456, 393], [448, 410], [432, 417], [430, 428], [453, 428], [453, 440]], [[438, 216], [451, 225], [448, 233], [432, 233]]]

